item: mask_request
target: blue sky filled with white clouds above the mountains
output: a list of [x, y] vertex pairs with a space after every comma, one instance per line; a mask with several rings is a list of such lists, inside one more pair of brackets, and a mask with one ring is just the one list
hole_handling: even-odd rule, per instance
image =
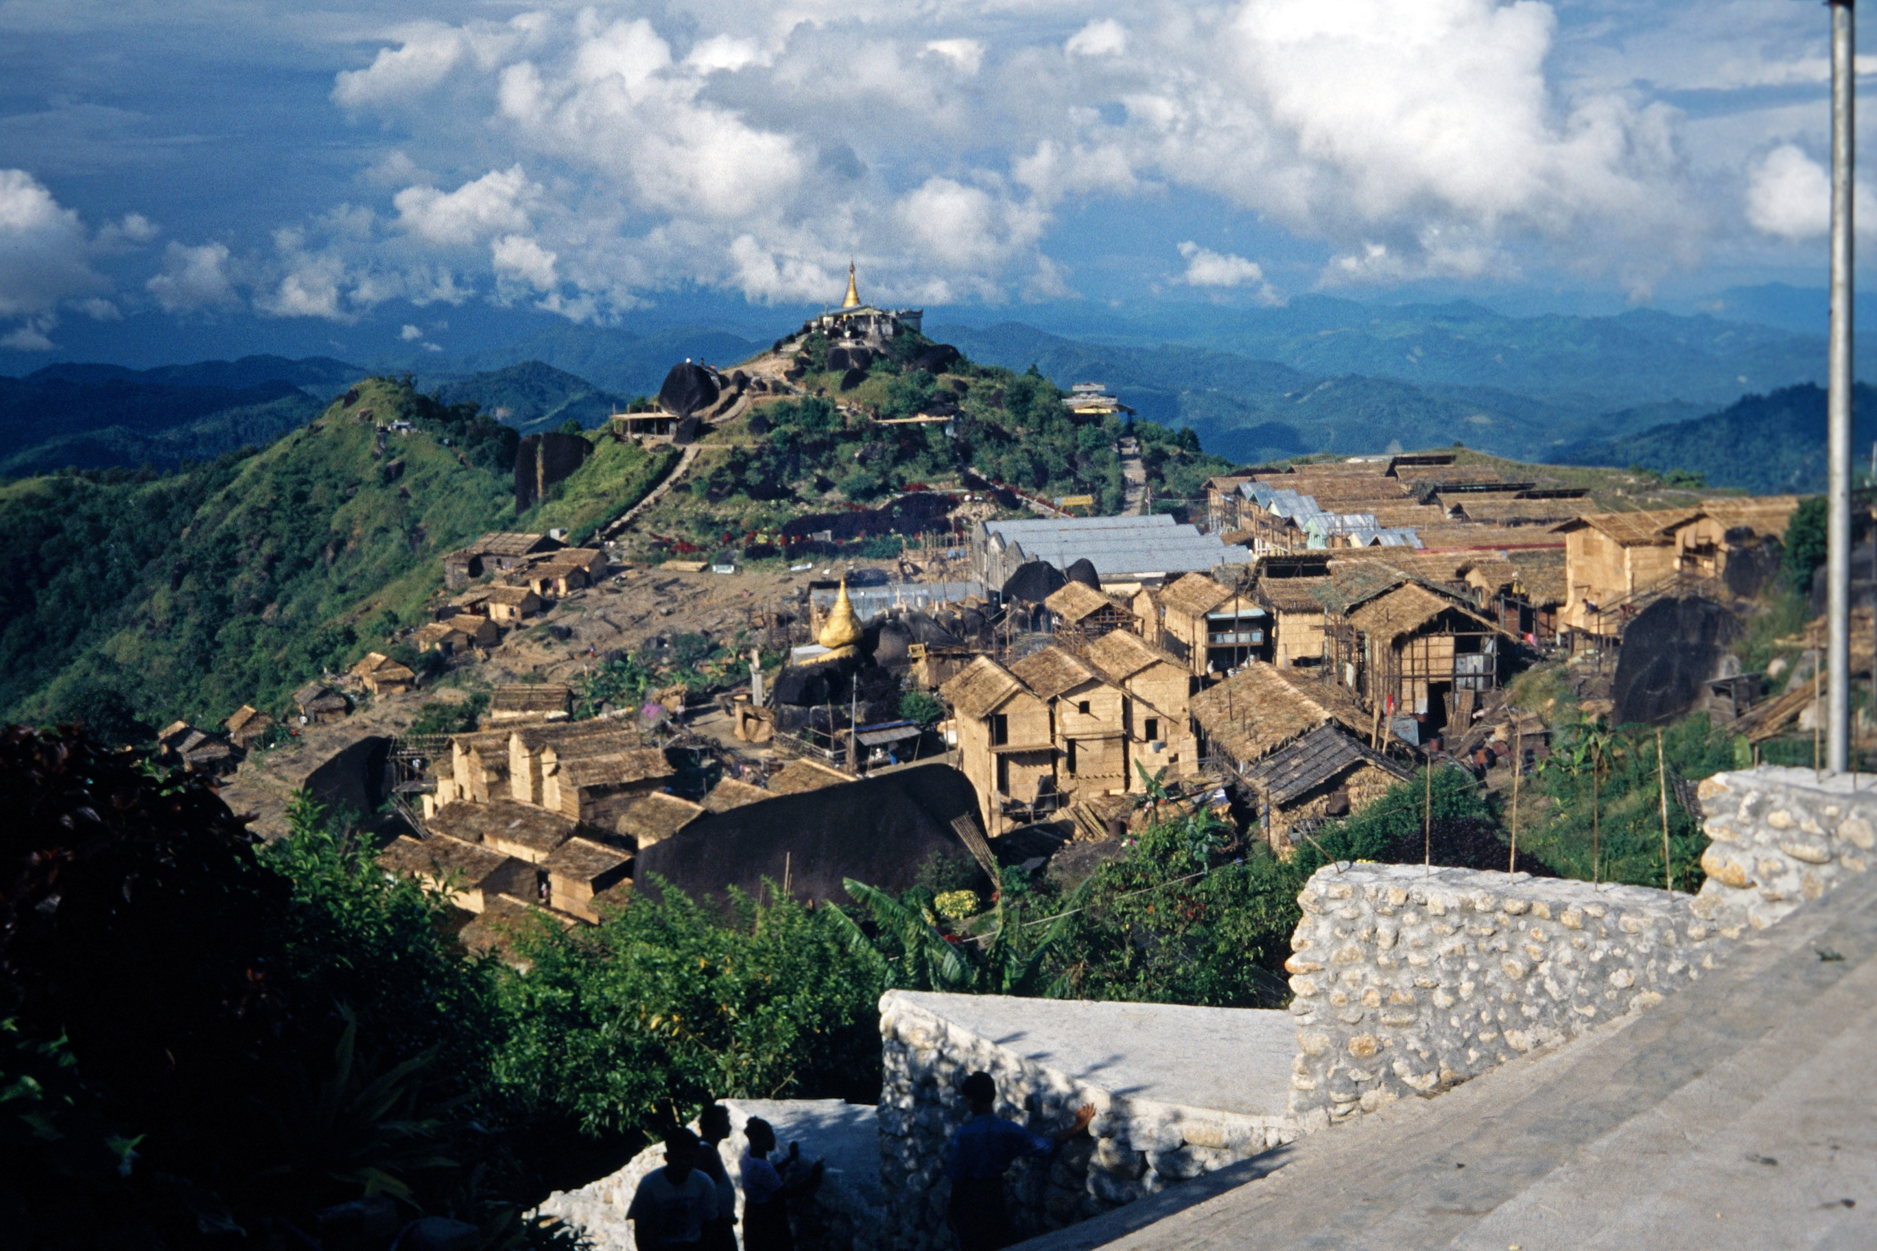
[[1015, 317], [1719, 309], [1823, 283], [1826, 36], [1800, 0], [0, 0], [0, 349], [443, 351], [839, 300], [850, 261]]

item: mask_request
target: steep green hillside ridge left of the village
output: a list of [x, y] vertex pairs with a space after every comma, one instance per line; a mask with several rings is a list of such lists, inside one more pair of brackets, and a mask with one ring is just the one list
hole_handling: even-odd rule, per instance
[[[360, 420], [362, 413], [370, 413]], [[377, 422], [415, 430], [377, 446]], [[604, 441], [514, 516], [518, 435], [405, 383], [261, 452], [180, 473], [124, 469], [0, 486], [0, 715], [45, 720], [120, 703], [145, 722], [280, 711], [321, 670], [424, 619], [441, 557], [488, 529], [589, 535], [668, 454]]]

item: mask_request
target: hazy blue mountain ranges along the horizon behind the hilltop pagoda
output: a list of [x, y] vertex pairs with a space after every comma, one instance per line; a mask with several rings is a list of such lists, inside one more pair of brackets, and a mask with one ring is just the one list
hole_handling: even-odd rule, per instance
[[[1062, 386], [1102, 381], [1143, 418], [1190, 426], [1209, 452], [1241, 463], [1451, 443], [1532, 461], [1652, 463], [1684, 443], [1667, 435], [1629, 443], [1644, 431], [1719, 413], [1744, 396], [1821, 383], [1817, 304], [1819, 293], [1791, 287], [1727, 293], [1716, 302], [1723, 315], [1507, 317], [1466, 302], [1381, 306], [1321, 294], [1280, 308], [1117, 311], [1061, 302], [1034, 309], [1053, 330], [927, 315], [927, 334], [984, 364], [1034, 364]], [[796, 315], [770, 311], [779, 334], [798, 324]], [[1746, 315], [1779, 324], [1729, 319]], [[749, 338], [753, 321], [743, 306], [738, 332], [708, 323], [648, 321], [638, 330], [527, 323], [537, 328], [509, 347], [449, 356], [413, 345], [370, 366], [330, 356], [141, 371], [54, 364], [0, 379], [0, 431], [11, 448], [0, 475], [173, 465], [265, 443], [304, 422], [312, 399], [366, 373], [413, 373], [422, 390], [475, 401], [524, 431], [569, 418], [591, 428], [616, 405], [655, 394], [678, 360], [730, 366], [760, 353], [768, 343]], [[1710, 480], [1804, 478], [1800, 460], [1716, 465]]]

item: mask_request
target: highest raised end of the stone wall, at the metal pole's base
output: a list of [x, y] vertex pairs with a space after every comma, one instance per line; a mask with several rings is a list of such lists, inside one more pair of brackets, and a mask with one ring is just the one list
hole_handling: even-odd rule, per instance
[[1877, 778], [1763, 765], [1699, 790], [1712, 844], [1695, 913], [1727, 938], [1764, 930], [1877, 855]]

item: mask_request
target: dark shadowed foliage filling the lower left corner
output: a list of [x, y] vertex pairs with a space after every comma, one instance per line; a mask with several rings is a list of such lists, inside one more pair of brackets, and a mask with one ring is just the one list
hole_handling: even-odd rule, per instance
[[199, 778], [0, 735], [0, 1212], [21, 1245], [274, 1245], [385, 1195], [514, 1247], [477, 1110], [505, 1037], [435, 897], [310, 805], [255, 848]]

